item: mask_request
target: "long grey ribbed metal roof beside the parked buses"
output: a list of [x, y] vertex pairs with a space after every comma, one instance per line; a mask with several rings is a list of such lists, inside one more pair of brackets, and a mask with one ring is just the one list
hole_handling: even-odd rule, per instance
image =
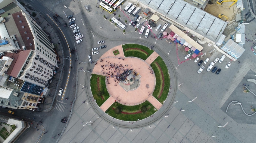
[[217, 42], [227, 22], [183, 0], [138, 0], [196, 33]]

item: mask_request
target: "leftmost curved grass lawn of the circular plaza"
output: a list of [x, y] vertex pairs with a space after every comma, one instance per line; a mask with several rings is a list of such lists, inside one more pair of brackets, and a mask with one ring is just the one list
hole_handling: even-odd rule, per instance
[[[92, 74], [91, 77], [91, 90], [93, 98], [96, 100], [98, 106], [101, 106], [109, 97], [108, 90], [106, 88], [105, 76], [100, 76], [96, 74]], [[99, 90], [101, 91], [102, 96], [98, 96]]]

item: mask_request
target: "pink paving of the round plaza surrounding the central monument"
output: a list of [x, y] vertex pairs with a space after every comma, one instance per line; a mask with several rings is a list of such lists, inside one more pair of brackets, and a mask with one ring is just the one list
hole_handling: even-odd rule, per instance
[[[113, 51], [116, 49], [118, 49], [120, 54], [114, 56]], [[120, 100], [119, 103], [128, 105], [128, 106], [141, 104], [144, 101], [148, 100], [149, 97], [151, 97], [150, 95], [153, 93], [155, 88], [155, 75], [150, 73], [150, 70], [148, 69], [149, 65], [145, 61], [139, 58], [131, 58], [131, 57], [124, 58], [125, 60], [123, 61], [113, 57], [124, 57], [122, 46], [114, 47], [108, 50], [108, 52], [106, 52], [105, 54], [103, 54], [100, 58], [100, 59], [104, 58], [103, 62], [97, 61], [97, 64], [93, 69], [93, 72], [100, 73], [101, 75], [105, 75], [102, 73], [103, 71], [109, 72], [113, 70], [109, 70], [108, 68], [104, 68], [103, 70], [101, 68], [101, 65], [104, 65], [105, 67], [105, 64], [110, 65], [109, 63], [122, 64], [123, 66], [125, 64], [126, 65], [128, 64], [128, 67], [125, 67], [125, 68], [133, 69], [137, 73], [139, 73], [139, 75], [141, 76], [140, 85], [137, 89], [126, 92], [120, 85], [118, 85], [119, 82], [118, 83], [114, 82], [114, 78], [110, 77], [110, 79], [108, 79], [110, 84], [106, 84], [106, 85], [111, 97], [100, 107], [104, 112], [114, 103], [114, 100], [116, 98], [118, 98], [117, 100]], [[117, 86], [114, 86], [115, 83], [117, 83]], [[149, 85], [148, 89], [146, 88], [146, 84]], [[152, 102], [151, 104], [155, 106], [157, 109], [160, 108], [159, 102], [156, 102], [158, 100], [154, 101], [153, 99], [150, 99], [150, 101]]]

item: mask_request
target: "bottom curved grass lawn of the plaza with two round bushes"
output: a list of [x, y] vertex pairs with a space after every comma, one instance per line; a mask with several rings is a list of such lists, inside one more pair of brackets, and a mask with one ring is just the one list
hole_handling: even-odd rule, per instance
[[[112, 108], [116, 108], [116, 107], [120, 107], [122, 112], [128, 112], [128, 113], [131, 113], [131, 112], [137, 112], [137, 111], [140, 111], [140, 108], [142, 106], [147, 106], [147, 107], [150, 107], [146, 113], [137, 113], [137, 114], [123, 114], [123, 113], [120, 113], [120, 114], [116, 114], [115, 113], [115, 110], [112, 109]], [[135, 106], [126, 106], [126, 105], [122, 105], [118, 102], [114, 102], [109, 108], [108, 110], [106, 111], [106, 113], [108, 113], [108, 115], [110, 115], [111, 117], [113, 118], [116, 118], [116, 119], [119, 119], [119, 120], [123, 120], [123, 121], [137, 121], [138, 119], [142, 120], [142, 119], [145, 119], [149, 116], [151, 116], [152, 114], [154, 114], [155, 112], [157, 112], [157, 109], [155, 109], [155, 107], [149, 103], [148, 101], [145, 101], [144, 103], [142, 104], [139, 104], [139, 105], [135, 105]]]

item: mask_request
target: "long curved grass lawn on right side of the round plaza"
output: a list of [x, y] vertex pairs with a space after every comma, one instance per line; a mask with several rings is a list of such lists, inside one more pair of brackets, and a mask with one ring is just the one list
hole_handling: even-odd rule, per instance
[[[160, 71], [158, 70], [158, 67], [156, 66], [155, 63], [158, 63], [159, 66], [161, 67], [162, 69], [162, 72], [163, 72], [163, 75], [164, 75], [164, 88], [163, 88], [163, 92], [161, 94], [161, 97], [158, 98], [159, 96], [159, 93], [161, 92], [162, 90], [162, 82], [161, 82], [161, 73]], [[155, 72], [155, 77], [156, 77], [156, 85], [155, 85], [155, 90], [153, 92], [153, 96], [160, 102], [163, 104], [163, 101], [166, 100], [167, 96], [168, 96], [168, 92], [169, 92], [169, 87], [170, 87], [170, 75], [168, 73], [168, 69], [167, 69], [167, 66], [166, 64], [164, 63], [163, 59], [158, 56], [154, 62], [151, 63], [150, 65], [154, 72]]]

